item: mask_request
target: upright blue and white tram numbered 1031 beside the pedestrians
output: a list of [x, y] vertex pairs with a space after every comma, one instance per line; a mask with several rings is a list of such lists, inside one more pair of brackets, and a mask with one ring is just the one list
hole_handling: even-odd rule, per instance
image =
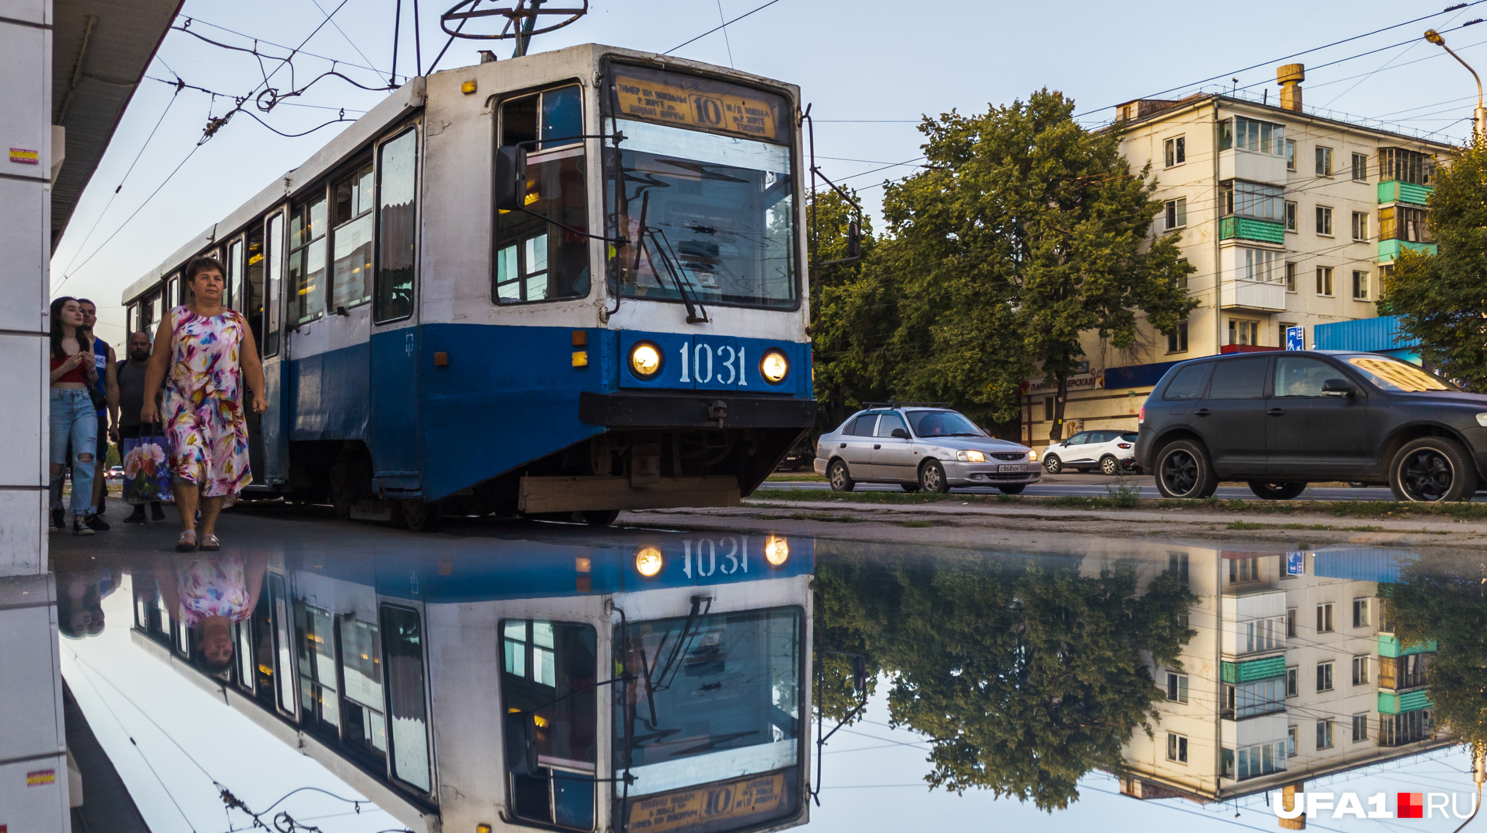
[[596, 45], [413, 79], [128, 327], [222, 260], [268, 377], [251, 491], [415, 529], [736, 503], [815, 417], [799, 99]]

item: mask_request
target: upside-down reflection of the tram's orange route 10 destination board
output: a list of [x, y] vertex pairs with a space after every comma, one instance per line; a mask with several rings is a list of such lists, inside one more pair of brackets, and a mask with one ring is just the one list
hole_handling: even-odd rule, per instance
[[629, 830], [724, 830], [785, 809], [785, 774], [749, 775], [659, 796], [630, 799]]

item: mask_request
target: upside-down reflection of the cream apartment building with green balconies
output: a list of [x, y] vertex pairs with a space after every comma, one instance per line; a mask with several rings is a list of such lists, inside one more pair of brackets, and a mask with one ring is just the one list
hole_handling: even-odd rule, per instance
[[1227, 800], [1453, 742], [1425, 687], [1436, 644], [1402, 646], [1383, 619], [1395, 557], [1170, 548], [1197, 636], [1181, 668], [1154, 668], [1167, 699], [1126, 748], [1123, 791]]

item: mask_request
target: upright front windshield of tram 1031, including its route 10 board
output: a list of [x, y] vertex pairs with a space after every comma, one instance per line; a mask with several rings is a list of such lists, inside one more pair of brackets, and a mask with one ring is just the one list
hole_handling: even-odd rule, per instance
[[[607, 154], [611, 291], [793, 307], [796, 181], [784, 97], [616, 67]], [[644, 229], [641, 227], [644, 214]]]

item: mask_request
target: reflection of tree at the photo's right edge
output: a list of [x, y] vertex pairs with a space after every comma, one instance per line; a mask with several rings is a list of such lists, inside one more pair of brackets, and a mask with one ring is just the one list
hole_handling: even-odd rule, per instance
[[1472, 754], [1487, 750], [1487, 564], [1423, 561], [1380, 584], [1384, 616], [1402, 644], [1436, 641], [1426, 667], [1435, 722]]

